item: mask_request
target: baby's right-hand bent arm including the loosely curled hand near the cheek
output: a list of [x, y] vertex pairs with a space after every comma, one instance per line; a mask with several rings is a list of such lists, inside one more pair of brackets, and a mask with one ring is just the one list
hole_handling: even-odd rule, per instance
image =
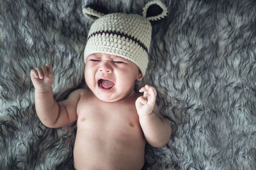
[[136, 109], [141, 128], [148, 143], [159, 148], [168, 143], [172, 128], [159, 113], [156, 105], [156, 89], [146, 85], [140, 89], [140, 92], [144, 93], [136, 100]]

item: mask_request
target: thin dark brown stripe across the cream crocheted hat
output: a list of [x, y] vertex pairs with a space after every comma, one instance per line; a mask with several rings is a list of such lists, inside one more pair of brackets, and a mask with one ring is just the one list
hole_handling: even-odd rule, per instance
[[148, 53], [148, 48], [143, 44], [141, 43], [140, 40], [134, 38], [134, 36], [129, 36], [127, 34], [124, 34], [122, 32], [116, 32], [116, 31], [97, 31], [97, 32], [93, 32], [92, 34], [90, 34], [90, 36], [88, 36], [87, 40], [90, 39], [92, 36], [95, 36], [95, 35], [102, 35], [103, 33], [105, 34], [113, 34], [113, 35], [117, 35], [117, 36], [121, 36], [121, 37], [125, 37], [125, 38], [128, 38], [128, 39], [131, 39], [132, 41], [134, 41], [135, 43], [137, 43], [138, 45], [141, 46], [141, 48], [143, 48], [143, 50], [145, 50], [147, 53]]

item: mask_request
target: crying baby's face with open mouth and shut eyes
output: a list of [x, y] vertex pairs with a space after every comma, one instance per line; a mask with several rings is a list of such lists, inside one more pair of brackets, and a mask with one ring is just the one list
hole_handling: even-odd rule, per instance
[[142, 80], [133, 62], [106, 53], [94, 53], [86, 59], [84, 78], [100, 100], [115, 102], [134, 93], [135, 80]]

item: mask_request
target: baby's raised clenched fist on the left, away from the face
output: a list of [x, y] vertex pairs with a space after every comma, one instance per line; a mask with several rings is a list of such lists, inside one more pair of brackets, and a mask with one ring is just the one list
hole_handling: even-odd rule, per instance
[[52, 74], [51, 64], [31, 69], [30, 77], [36, 90], [39, 90], [40, 92], [52, 90], [54, 75]]

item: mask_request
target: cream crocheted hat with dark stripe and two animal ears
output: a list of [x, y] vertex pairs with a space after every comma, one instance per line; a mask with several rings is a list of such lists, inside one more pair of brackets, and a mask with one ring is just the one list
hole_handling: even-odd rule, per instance
[[[145, 75], [148, 65], [152, 25], [167, 16], [166, 6], [159, 0], [150, 1], [143, 15], [110, 13], [90, 4], [83, 9], [90, 20], [95, 20], [88, 33], [84, 62], [93, 53], [108, 53], [131, 60]], [[151, 22], [151, 24], [150, 24]]]

